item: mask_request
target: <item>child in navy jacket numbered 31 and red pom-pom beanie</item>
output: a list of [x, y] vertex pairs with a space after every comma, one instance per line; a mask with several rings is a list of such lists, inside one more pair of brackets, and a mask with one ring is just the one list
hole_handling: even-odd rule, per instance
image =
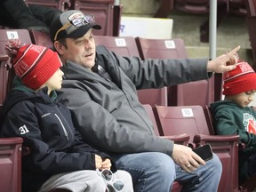
[[17, 77], [4, 100], [0, 136], [21, 137], [29, 148], [21, 161], [22, 191], [132, 192], [131, 175], [84, 143], [59, 102], [64, 74], [58, 54], [36, 44], [20, 46], [18, 39], [6, 45], [6, 52]]

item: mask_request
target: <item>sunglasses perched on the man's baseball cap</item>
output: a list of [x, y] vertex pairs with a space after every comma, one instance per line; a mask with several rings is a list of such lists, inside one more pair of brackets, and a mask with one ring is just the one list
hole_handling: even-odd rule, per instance
[[84, 15], [84, 17], [81, 18], [75, 18], [74, 20], [70, 20], [69, 22], [65, 23], [55, 34], [54, 41], [56, 41], [57, 36], [59, 35], [60, 31], [66, 30], [71, 25], [73, 25], [76, 28], [79, 28], [81, 26], [87, 25], [89, 23], [94, 23], [95, 19], [93, 15]]

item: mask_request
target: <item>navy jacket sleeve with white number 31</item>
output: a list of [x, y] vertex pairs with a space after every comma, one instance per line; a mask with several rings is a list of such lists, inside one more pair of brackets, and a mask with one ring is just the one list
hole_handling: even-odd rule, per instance
[[[16, 108], [17, 107], [17, 108]], [[30, 154], [22, 157], [25, 171], [56, 174], [79, 170], [95, 170], [94, 153], [54, 151], [41, 138], [35, 112], [28, 106], [17, 104], [5, 117], [1, 137], [21, 137]]]

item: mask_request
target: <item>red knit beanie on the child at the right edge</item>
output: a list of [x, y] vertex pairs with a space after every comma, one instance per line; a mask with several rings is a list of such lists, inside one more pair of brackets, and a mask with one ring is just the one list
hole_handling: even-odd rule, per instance
[[245, 61], [239, 60], [236, 68], [224, 73], [223, 95], [235, 95], [256, 90], [256, 73]]

